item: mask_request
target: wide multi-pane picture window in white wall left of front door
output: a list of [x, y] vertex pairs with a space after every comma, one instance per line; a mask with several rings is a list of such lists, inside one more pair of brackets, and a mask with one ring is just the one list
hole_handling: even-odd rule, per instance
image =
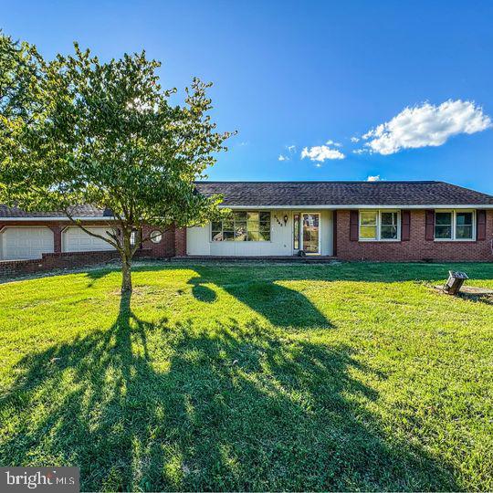
[[270, 241], [270, 212], [235, 211], [211, 224], [211, 241]]

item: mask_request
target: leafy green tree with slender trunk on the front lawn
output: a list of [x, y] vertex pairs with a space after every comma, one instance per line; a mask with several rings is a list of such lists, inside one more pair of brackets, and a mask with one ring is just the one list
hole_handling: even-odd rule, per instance
[[[63, 211], [110, 243], [121, 256], [121, 291], [129, 292], [131, 259], [149, 239], [132, 243], [133, 231], [205, 225], [222, 214], [221, 197], [197, 194], [194, 181], [226, 150], [231, 133], [215, 131], [211, 84], [194, 79], [184, 105], [173, 106], [176, 89], [162, 89], [160, 63], [144, 52], [103, 63], [74, 46], [72, 56], [40, 62], [36, 104], [10, 129], [10, 145], [0, 147], [0, 203]], [[72, 216], [80, 204], [110, 210], [115, 227], [107, 236], [89, 230]]]

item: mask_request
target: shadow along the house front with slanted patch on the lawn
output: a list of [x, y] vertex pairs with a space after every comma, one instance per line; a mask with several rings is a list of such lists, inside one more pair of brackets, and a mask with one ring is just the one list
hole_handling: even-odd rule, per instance
[[[156, 265], [141, 266], [134, 273], [170, 270], [180, 267]], [[192, 285], [194, 298], [212, 304], [217, 295], [212, 287], [223, 289], [238, 301], [266, 318], [278, 327], [297, 328], [332, 328], [319, 309], [297, 289], [288, 287], [290, 281], [351, 281], [351, 282], [385, 282], [396, 283], [414, 280], [423, 282], [445, 282], [447, 269], [456, 267], [466, 269], [471, 277], [488, 279], [493, 270], [477, 267], [474, 264], [379, 264], [379, 263], [346, 263], [342, 265], [291, 265], [266, 264], [258, 265], [200, 265], [184, 263], [197, 276], [191, 277], [188, 284]], [[493, 267], [492, 267], [493, 268]], [[91, 279], [89, 287], [99, 278], [112, 272], [111, 269], [88, 272]], [[330, 293], [328, 293], [330, 296]], [[488, 302], [488, 301], [487, 301]]]

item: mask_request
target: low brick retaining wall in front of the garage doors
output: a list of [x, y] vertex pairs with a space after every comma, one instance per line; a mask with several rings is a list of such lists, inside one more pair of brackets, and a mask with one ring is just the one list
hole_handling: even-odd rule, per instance
[[[152, 251], [142, 249], [134, 258], [152, 257]], [[65, 252], [43, 254], [41, 258], [32, 260], [0, 260], [0, 278], [15, 278], [35, 272], [46, 272], [63, 268], [85, 267], [103, 264], [120, 258], [114, 250], [98, 252]]]

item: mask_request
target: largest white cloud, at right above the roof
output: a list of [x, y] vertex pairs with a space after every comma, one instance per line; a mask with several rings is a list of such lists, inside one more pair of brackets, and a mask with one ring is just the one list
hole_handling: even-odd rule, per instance
[[362, 136], [364, 145], [380, 154], [438, 146], [453, 135], [476, 133], [492, 126], [491, 119], [472, 101], [447, 100], [439, 106], [424, 103], [404, 108]]

